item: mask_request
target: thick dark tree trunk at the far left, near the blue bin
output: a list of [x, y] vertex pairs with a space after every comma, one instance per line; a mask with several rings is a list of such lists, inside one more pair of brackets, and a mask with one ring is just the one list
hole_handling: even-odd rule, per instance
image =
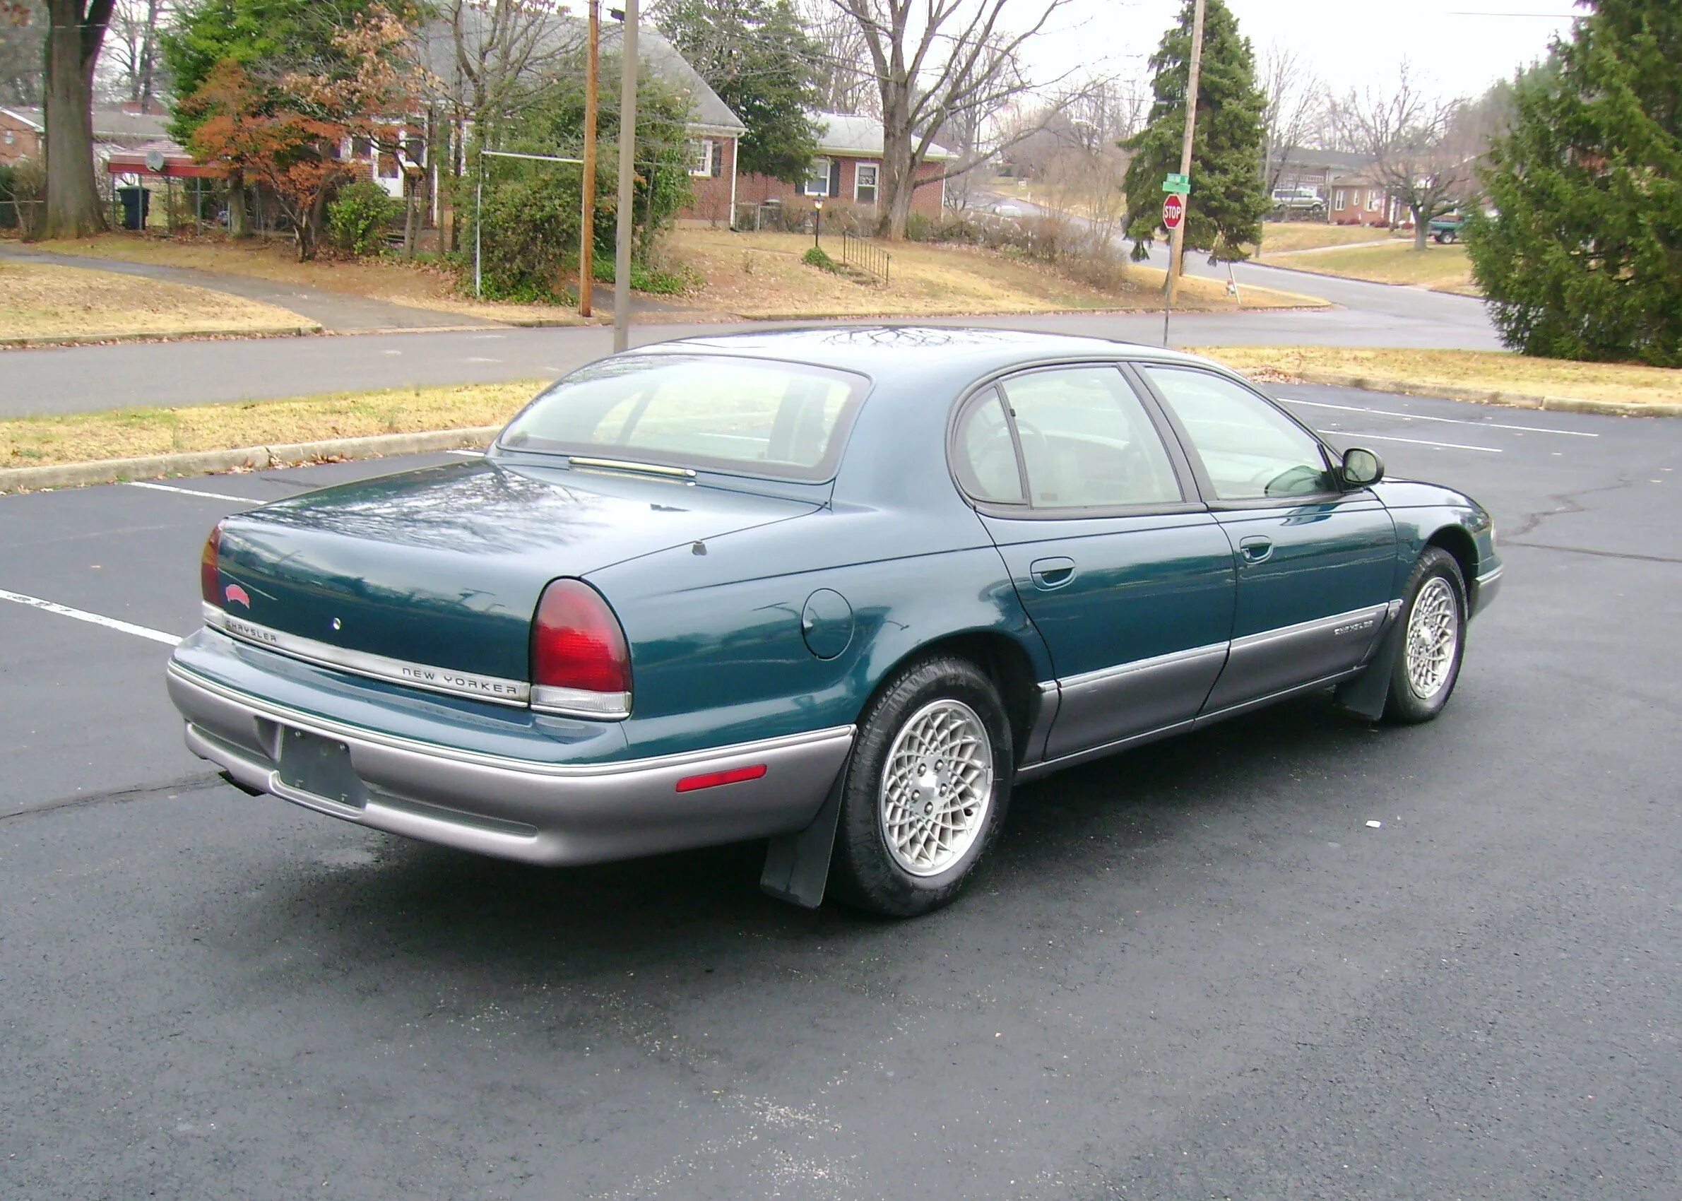
[[87, 237], [106, 229], [94, 185], [94, 62], [111, 0], [49, 0], [47, 205], [39, 237]]

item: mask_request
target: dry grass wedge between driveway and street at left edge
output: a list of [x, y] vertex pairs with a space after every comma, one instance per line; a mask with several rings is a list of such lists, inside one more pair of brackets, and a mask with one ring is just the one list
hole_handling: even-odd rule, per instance
[[309, 321], [274, 304], [109, 271], [0, 262], [0, 338], [294, 331]]

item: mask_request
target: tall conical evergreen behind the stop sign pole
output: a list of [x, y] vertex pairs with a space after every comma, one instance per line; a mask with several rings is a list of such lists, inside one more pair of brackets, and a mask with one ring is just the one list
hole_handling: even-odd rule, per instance
[[[1127, 165], [1127, 237], [1134, 239], [1135, 259], [1147, 257], [1147, 244], [1162, 222], [1162, 177], [1179, 170], [1191, 74], [1191, 22], [1193, 0], [1186, 0], [1179, 22], [1150, 56], [1156, 101], [1149, 121], [1122, 143], [1134, 151]], [[1265, 111], [1267, 96], [1256, 86], [1250, 39], [1240, 37], [1238, 20], [1221, 0], [1208, 0], [1198, 130], [1191, 143], [1191, 195], [1186, 200], [1186, 249], [1208, 251], [1211, 262], [1246, 259], [1245, 242], [1262, 241], [1262, 217], [1268, 210], [1262, 180]]]

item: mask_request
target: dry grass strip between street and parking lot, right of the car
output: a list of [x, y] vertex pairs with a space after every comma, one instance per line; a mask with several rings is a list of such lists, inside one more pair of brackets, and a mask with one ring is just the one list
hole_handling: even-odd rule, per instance
[[1273, 378], [1302, 372], [1357, 375], [1373, 385], [1406, 384], [1618, 404], [1682, 402], [1682, 370], [1637, 363], [1573, 363], [1478, 350], [1342, 350], [1337, 347], [1204, 347], [1199, 355]]

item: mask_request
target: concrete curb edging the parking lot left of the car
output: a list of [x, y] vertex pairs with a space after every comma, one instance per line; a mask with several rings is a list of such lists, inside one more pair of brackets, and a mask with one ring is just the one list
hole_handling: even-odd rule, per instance
[[103, 463], [62, 463], [50, 468], [0, 469], [0, 493], [39, 491], [42, 488], [82, 488], [123, 479], [160, 479], [165, 476], [205, 476], [217, 471], [267, 471], [298, 463], [328, 459], [377, 459], [387, 454], [426, 454], [484, 446], [501, 426], [469, 429], [436, 429], [420, 434], [373, 434], [370, 437], [330, 437], [320, 442], [278, 446], [242, 446], [232, 451], [183, 451], [148, 454], [138, 459]]

